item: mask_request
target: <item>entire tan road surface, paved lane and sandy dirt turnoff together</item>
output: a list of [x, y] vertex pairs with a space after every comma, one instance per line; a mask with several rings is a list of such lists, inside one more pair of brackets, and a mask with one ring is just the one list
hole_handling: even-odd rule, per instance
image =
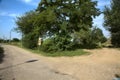
[[[115, 74], [120, 74], [120, 51], [117, 49], [87, 50], [92, 54], [53, 58], [14, 46], [4, 45], [4, 48], [6, 57], [0, 64], [2, 80], [113, 80]], [[24, 63], [32, 59], [38, 61]]]

